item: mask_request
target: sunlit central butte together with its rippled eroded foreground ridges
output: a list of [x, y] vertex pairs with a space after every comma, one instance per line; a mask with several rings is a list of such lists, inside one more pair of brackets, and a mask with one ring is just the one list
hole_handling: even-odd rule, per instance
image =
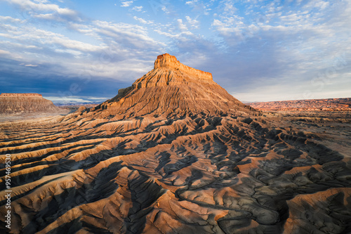
[[0, 128], [12, 233], [351, 231], [350, 155], [168, 54], [95, 108]]

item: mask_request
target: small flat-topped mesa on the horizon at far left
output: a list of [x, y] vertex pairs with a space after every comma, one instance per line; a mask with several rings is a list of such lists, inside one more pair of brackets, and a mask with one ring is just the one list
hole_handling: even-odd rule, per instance
[[0, 114], [53, 112], [60, 108], [38, 93], [1, 93]]

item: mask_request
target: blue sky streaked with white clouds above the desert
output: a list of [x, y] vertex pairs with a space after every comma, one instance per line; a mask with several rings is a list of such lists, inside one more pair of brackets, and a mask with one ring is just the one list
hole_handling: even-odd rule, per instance
[[159, 54], [244, 102], [351, 97], [351, 0], [0, 0], [0, 93], [101, 103]]

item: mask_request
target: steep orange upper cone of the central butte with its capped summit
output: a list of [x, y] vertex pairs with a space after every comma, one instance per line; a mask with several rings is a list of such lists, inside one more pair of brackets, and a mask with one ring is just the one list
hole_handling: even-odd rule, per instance
[[183, 65], [168, 53], [157, 57], [154, 70], [95, 110], [99, 108], [131, 117], [250, 109], [213, 82], [211, 73]]

